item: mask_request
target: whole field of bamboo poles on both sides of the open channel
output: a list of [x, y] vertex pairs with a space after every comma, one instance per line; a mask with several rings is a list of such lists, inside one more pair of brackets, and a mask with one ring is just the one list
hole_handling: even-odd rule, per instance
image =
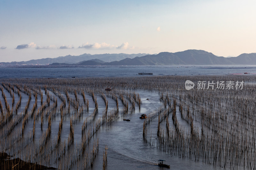
[[[187, 91], [184, 83], [188, 79], [195, 83], [244, 81], [247, 84], [242, 90], [195, 88]], [[163, 102], [163, 106], [152, 112], [144, 122], [143, 138], [149, 145], [184, 159], [200, 160], [210, 165], [255, 168], [256, 78], [252, 76], [4, 79], [1, 82], [1, 151], [15, 153], [23, 160], [36, 160], [47, 166], [58, 165], [56, 167], [62, 169], [74, 167], [80, 161], [86, 165], [84, 169], [89, 168], [89, 158], [87, 161], [82, 161], [82, 158], [85, 158], [83, 152], [89, 153], [88, 147], [92, 146], [90, 140], [102, 125], [108, 127], [120, 120], [119, 117], [132, 114], [135, 104], [140, 107], [142, 102], [137, 92], [146, 91], [159, 92]], [[107, 86], [113, 87], [111, 92], [104, 91]], [[93, 111], [89, 112], [86, 95], [92, 96], [95, 105]], [[96, 96], [105, 102], [102, 115], [97, 113], [99, 98]], [[41, 105], [37, 105], [37, 98], [39, 101], [41, 99]], [[61, 103], [57, 103], [57, 98]], [[108, 110], [107, 98], [116, 102], [112, 110]], [[19, 111], [22, 99], [28, 100], [24, 109]], [[124, 105], [123, 109], [119, 109], [118, 100]], [[83, 115], [86, 117], [83, 118]], [[57, 119], [59, 130], [56, 130], [58, 134], [56, 132], [55, 137], [51, 127]], [[61, 130], [66, 120], [70, 122], [70, 138], [63, 137], [65, 132]], [[33, 130], [28, 130], [30, 121], [34, 121]], [[35, 135], [36, 123], [40, 125], [40, 121], [42, 132], [38, 137]], [[149, 124], [152, 121], [158, 124], [157, 129], [151, 129]], [[73, 142], [76, 134], [73, 132], [74, 126], [79, 122], [85, 122], [83, 130], [81, 128], [81, 140]]]

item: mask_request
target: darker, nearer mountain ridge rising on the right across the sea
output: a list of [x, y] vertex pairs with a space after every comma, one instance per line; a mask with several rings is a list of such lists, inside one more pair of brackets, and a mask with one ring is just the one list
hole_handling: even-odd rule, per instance
[[156, 55], [144, 55], [125, 58], [120, 61], [103, 62], [88, 60], [73, 65], [256, 65], [256, 53], [241, 54], [237, 57], [221, 57], [204, 50], [186, 50], [176, 53], [161, 52]]

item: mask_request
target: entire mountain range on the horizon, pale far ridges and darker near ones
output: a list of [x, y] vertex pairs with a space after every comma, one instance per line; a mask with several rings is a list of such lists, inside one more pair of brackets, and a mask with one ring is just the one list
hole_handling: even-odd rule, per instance
[[[115, 60], [115, 61], [113, 61]], [[10, 64], [16, 64], [11, 62]], [[21, 62], [18, 62], [20, 64]], [[182, 52], [159, 54], [83, 54], [67, 55], [57, 58], [30, 60], [24, 64], [48, 64], [50, 66], [79, 65], [256, 65], [256, 53], [241, 54], [237, 57], [216, 56], [204, 50], [186, 50]]]

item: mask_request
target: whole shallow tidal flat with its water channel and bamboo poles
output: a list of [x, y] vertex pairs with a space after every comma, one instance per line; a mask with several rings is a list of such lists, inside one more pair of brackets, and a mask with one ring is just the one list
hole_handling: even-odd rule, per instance
[[253, 75], [1, 79], [1, 169], [255, 169], [255, 87]]

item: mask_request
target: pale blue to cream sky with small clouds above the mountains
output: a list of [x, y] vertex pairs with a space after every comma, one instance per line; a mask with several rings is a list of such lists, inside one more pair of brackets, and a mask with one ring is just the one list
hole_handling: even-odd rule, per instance
[[256, 52], [256, 1], [0, 0], [0, 62], [65, 55]]

